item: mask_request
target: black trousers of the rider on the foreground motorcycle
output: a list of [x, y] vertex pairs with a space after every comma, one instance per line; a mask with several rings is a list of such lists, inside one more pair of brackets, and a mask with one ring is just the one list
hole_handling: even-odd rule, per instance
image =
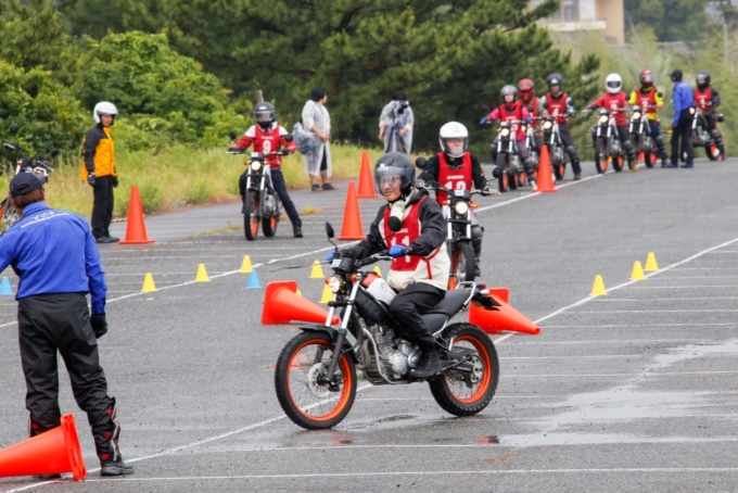
[[396, 320], [397, 336], [418, 344], [421, 351], [434, 351], [435, 338], [428, 331], [421, 314], [441, 303], [444, 292], [427, 282], [416, 282], [399, 292], [390, 304], [390, 314]]

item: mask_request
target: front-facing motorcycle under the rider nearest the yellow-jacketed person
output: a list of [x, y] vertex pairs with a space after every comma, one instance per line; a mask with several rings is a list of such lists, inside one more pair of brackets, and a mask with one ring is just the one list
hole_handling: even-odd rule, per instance
[[[234, 135], [231, 139], [234, 140]], [[229, 154], [243, 154], [247, 151], [228, 151]], [[287, 152], [251, 152], [247, 166], [246, 189], [243, 195], [243, 231], [246, 240], [254, 241], [258, 236], [259, 226], [265, 237], [273, 237], [277, 232], [279, 217], [282, 214], [282, 203], [277, 191], [271, 186], [271, 174], [267, 157], [271, 155], [287, 155]]]

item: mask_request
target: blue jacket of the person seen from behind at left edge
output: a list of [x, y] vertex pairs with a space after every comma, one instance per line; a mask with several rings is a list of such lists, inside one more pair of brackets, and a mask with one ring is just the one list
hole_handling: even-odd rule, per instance
[[92, 313], [105, 313], [105, 273], [87, 222], [36, 202], [0, 237], [0, 271], [21, 278], [16, 300], [37, 294], [90, 293]]

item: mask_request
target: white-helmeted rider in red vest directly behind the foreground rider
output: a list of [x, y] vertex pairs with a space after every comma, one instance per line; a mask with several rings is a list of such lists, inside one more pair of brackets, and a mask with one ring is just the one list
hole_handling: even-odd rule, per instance
[[[482, 190], [483, 195], [497, 194], [492, 190], [484, 176], [480, 160], [467, 151], [469, 131], [458, 122], [448, 122], [438, 132], [442, 152], [425, 162], [423, 170], [418, 176], [425, 182], [437, 181], [449, 190]], [[446, 192], [438, 190], [435, 200], [438, 204], [446, 200]], [[471, 243], [476, 257], [476, 276], [480, 276], [480, 255], [482, 253], [482, 237], [484, 228], [479, 225], [476, 215], [471, 213]]]

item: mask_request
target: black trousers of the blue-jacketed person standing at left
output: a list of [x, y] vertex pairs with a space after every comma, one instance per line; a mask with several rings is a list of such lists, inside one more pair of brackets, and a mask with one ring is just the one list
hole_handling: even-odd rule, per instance
[[56, 351], [69, 374], [77, 405], [87, 413], [101, 460], [118, 460], [115, 400], [100, 366], [98, 341], [84, 293], [42, 294], [18, 301], [18, 341], [26, 379], [30, 435], [61, 425]]

